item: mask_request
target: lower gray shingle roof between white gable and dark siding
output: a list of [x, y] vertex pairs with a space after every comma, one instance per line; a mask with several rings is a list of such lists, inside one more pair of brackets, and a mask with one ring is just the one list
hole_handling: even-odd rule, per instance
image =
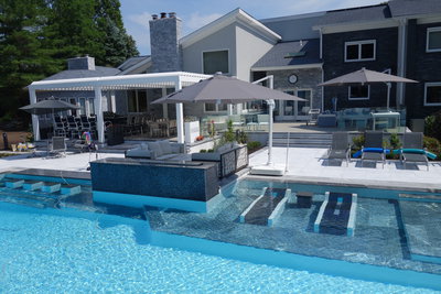
[[[304, 55], [302, 55], [305, 53]], [[299, 55], [295, 57], [288, 57]], [[308, 64], [320, 64], [320, 39], [310, 39], [276, 44], [265, 54], [252, 68], [301, 66]]]

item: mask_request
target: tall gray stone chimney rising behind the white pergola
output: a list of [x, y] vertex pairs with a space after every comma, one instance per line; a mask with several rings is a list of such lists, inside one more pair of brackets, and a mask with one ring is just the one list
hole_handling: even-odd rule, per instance
[[150, 46], [152, 72], [179, 72], [181, 70], [181, 50], [179, 40], [182, 32], [182, 20], [174, 12], [169, 17], [165, 12], [152, 15], [150, 24]]

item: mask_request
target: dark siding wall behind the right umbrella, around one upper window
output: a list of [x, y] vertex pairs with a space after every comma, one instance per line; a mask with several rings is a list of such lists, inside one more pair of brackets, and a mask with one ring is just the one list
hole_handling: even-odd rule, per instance
[[[345, 42], [376, 40], [376, 59], [372, 62], [345, 62]], [[387, 68], [397, 74], [398, 29], [377, 29], [323, 35], [323, 72], [324, 80], [335, 78], [366, 67], [383, 72]], [[396, 106], [396, 85], [390, 92], [390, 107]], [[338, 98], [337, 109], [353, 107], [386, 107], [387, 86], [370, 85], [369, 100], [348, 100], [348, 87], [324, 87], [324, 109], [332, 109], [331, 99]]]

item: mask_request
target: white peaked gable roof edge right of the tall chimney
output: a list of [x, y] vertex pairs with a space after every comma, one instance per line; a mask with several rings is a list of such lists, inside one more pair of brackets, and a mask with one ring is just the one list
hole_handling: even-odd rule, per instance
[[261, 22], [246, 13], [240, 8], [233, 10], [232, 12], [218, 18], [217, 20], [202, 26], [201, 29], [194, 31], [193, 33], [182, 37], [180, 43], [183, 47], [190, 46], [197, 41], [226, 28], [227, 25], [239, 21], [244, 23], [248, 28], [250, 28], [254, 32], [260, 34], [261, 36], [271, 40], [272, 42], [278, 42], [281, 40], [281, 36], [265, 26]]

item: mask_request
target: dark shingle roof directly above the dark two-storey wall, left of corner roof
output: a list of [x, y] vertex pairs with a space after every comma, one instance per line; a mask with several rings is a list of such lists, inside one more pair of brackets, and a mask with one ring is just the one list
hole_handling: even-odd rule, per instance
[[338, 24], [348, 22], [381, 21], [390, 19], [390, 10], [387, 4], [370, 7], [348, 8], [327, 11], [321, 18], [318, 25]]

